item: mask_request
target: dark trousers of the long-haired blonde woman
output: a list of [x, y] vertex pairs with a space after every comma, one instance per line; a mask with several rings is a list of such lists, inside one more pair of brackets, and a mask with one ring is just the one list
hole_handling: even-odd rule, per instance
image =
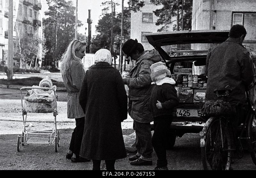
[[76, 127], [72, 133], [69, 150], [75, 153], [76, 158], [79, 157], [80, 147], [84, 135], [84, 117], [76, 119]]

